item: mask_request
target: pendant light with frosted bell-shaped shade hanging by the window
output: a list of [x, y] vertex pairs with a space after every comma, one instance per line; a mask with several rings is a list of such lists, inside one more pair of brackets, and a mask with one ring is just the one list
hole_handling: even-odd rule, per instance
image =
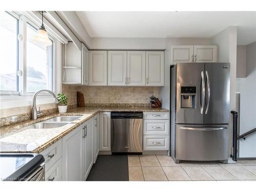
[[42, 25], [37, 30], [35, 36], [33, 37], [33, 41], [41, 46], [51, 46], [52, 41], [48, 37], [48, 33], [46, 31], [46, 28], [44, 26], [44, 11], [40, 11], [42, 13]]

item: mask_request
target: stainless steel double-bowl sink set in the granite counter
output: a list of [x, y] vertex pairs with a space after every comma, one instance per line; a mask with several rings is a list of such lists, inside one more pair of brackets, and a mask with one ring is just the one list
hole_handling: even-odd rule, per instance
[[25, 129], [52, 129], [64, 126], [79, 119], [81, 116], [57, 116], [24, 127]]

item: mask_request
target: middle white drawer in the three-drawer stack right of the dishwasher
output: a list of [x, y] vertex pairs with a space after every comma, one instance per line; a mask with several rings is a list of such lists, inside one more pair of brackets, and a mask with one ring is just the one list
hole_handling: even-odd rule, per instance
[[169, 120], [144, 120], [143, 135], [168, 135]]

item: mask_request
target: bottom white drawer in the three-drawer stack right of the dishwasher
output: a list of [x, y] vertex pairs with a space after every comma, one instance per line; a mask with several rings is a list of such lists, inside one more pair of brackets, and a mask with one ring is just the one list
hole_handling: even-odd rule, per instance
[[143, 150], [144, 151], [159, 151], [169, 149], [168, 135], [144, 135]]

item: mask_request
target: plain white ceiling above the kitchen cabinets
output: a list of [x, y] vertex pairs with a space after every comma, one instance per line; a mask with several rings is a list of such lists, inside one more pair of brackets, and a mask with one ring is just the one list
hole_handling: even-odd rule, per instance
[[256, 41], [256, 11], [76, 13], [91, 37], [210, 38], [238, 26], [238, 45]]

